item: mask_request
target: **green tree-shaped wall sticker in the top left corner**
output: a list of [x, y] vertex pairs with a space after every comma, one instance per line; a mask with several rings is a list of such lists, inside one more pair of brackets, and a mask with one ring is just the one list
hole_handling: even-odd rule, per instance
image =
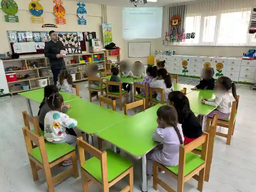
[[18, 12], [18, 5], [14, 0], [2, 0], [1, 8], [7, 15], [5, 15], [6, 22], [19, 22], [18, 16], [15, 16]]

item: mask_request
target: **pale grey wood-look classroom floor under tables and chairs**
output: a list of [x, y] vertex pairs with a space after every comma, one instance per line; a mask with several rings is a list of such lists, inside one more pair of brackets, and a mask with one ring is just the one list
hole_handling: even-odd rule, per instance
[[[89, 101], [88, 91], [84, 88], [86, 83], [79, 83], [80, 95], [82, 99]], [[254, 115], [256, 92], [251, 87], [246, 86], [240, 86], [237, 92], [240, 95], [240, 102], [234, 136], [230, 146], [225, 144], [224, 138], [216, 137], [210, 180], [204, 182], [204, 192], [255, 192], [256, 142], [254, 139], [256, 139], [256, 118]], [[93, 102], [99, 105], [96, 99]], [[39, 104], [31, 103], [33, 113], [36, 115]], [[39, 181], [34, 182], [28, 163], [21, 129], [24, 126], [21, 112], [27, 110], [25, 98], [17, 95], [0, 99], [0, 109], [0, 121], [2, 122], [0, 128], [0, 191], [46, 192], [47, 184], [43, 170], [39, 171]], [[98, 118], [99, 115], [95, 114], [95, 118]], [[121, 155], [134, 162], [134, 192], [140, 192], [140, 161], [131, 158], [122, 151]], [[60, 169], [64, 168], [53, 168], [52, 172], [58, 174]], [[167, 174], [160, 174], [160, 177], [176, 189], [177, 182], [175, 179]], [[128, 179], [125, 178], [112, 186], [110, 191], [121, 191], [127, 183]], [[101, 190], [97, 185], [91, 185], [89, 191], [100, 192]], [[154, 191], [152, 180], [148, 181], [148, 192]], [[165, 192], [161, 187], [159, 187], [159, 191]], [[195, 180], [191, 179], [185, 183], [184, 192], [197, 191]], [[81, 178], [68, 178], [55, 186], [55, 192], [82, 192]]]

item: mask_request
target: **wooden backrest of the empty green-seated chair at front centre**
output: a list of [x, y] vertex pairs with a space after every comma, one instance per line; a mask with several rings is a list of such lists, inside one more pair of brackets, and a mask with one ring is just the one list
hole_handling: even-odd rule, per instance
[[78, 138], [77, 145], [78, 145], [80, 165], [83, 166], [86, 163], [84, 151], [87, 151], [91, 156], [94, 156], [101, 161], [102, 183], [105, 183], [106, 181], [108, 181], [106, 151], [100, 151], [96, 149], [94, 146], [82, 140], [82, 137]]

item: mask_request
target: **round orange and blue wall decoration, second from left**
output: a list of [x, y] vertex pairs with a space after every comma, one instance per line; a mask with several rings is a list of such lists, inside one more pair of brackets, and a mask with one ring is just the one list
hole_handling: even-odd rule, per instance
[[40, 0], [32, 0], [28, 5], [28, 9], [30, 10], [32, 16], [33, 23], [43, 23], [43, 6], [38, 2]]

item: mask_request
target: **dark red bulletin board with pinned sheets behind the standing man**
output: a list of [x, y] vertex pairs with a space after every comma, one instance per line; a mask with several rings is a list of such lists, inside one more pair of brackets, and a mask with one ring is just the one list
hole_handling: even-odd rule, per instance
[[[57, 32], [57, 31], [56, 31]], [[74, 34], [80, 37], [81, 52], [86, 51], [84, 32], [57, 32], [60, 34]], [[42, 31], [7, 31], [12, 54], [33, 55], [44, 54], [45, 43], [50, 41], [49, 32]]]

